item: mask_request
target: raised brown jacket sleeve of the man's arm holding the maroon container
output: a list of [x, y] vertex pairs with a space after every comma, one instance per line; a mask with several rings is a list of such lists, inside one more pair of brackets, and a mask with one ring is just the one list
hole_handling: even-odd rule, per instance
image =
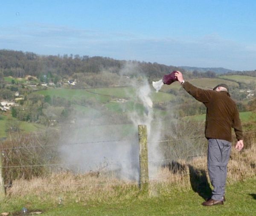
[[212, 97], [211, 90], [199, 89], [190, 84], [188, 81], [184, 82], [182, 86], [186, 92], [189, 93], [189, 95], [192, 95], [196, 100], [202, 103], [209, 102]]

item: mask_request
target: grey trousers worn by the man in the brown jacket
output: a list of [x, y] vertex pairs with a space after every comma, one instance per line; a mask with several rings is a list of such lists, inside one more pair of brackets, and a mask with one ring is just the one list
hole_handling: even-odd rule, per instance
[[231, 142], [221, 139], [208, 140], [207, 167], [213, 186], [212, 199], [222, 200], [227, 179], [227, 162], [230, 158]]

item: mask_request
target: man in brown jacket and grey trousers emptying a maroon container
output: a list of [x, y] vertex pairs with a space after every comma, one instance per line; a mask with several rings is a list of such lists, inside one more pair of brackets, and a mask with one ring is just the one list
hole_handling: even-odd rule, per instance
[[224, 204], [232, 127], [236, 133], [236, 149], [240, 151], [244, 147], [238, 109], [230, 98], [226, 84], [219, 84], [213, 90], [205, 90], [184, 81], [179, 71], [175, 76], [186, 92], [207, 107], [205, 124], [205, 137], [208, 139], [207, 167], [213, 190], [212, 197], [202, 204], [204, 206]]

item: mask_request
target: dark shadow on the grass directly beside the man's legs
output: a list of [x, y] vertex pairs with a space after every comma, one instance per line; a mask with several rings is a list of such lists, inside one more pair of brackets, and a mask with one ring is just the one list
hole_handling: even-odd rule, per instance
[[207, 180], [205, 170], [198, 170], [189, 165], [189, 177], [192, 189], [198, 193], [204, 200], [212, 196], [212, 189]]

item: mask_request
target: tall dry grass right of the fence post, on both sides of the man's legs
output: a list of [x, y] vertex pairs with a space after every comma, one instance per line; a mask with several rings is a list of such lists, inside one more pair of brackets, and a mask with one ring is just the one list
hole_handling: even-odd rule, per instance
[[[169, 185], [175, 186], [177, 189], [187, 190], [193, 187], [194, 181], [209, 181], [207, 173], [207, 157], [197, 157], [192, 161], [176, 161], [179, 169], [175, 168], [175, 164], [171, 167], [165, 167], [157, 174], [155, 184], [166, 184], [167, 190]], [[230, 161], [228, 163], [227, 182], [234, 183], [243, 181], [256, 175], [256, 145], [255, 142], [248, 149], [241, 152], [232, 149]], [[153, 186], [154, 187], [154, 186]]]

